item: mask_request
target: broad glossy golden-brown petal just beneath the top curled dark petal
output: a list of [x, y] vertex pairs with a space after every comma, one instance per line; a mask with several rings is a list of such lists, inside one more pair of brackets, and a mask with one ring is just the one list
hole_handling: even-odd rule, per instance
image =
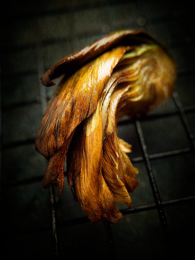
[[67, 146], [73, 130], [96, 109], [102, 90], [125, 50], [118, 47], [108, 51], [62, 80], [38, 129], [35, 140], [38, 152], [48, 158], [61, 146]]

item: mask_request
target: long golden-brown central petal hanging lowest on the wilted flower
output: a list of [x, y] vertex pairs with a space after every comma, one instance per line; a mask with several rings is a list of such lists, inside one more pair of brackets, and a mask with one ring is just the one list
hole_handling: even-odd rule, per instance
[[68, 152], [68, 158], [71, 157], [67, 163], [68, 178], [73, 178], [73, 194], [76, 193], [91, 222], [104, 220], [116, 223], [122, 214], [102, 177], [102, 139], [101, 108], [98, 105], [94, 113], [77, 127], [73, 136]]

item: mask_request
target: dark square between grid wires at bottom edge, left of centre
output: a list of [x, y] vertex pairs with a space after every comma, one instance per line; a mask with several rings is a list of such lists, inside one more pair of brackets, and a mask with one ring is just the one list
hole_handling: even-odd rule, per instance
[[59, 232], [61, 253], [69, 259], [109, 259], [102, 222], [67, 226]]

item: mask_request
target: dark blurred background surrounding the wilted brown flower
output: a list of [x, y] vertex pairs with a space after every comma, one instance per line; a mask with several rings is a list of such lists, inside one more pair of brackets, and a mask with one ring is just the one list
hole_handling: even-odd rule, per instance
[[[1, 16], [1, 233], [5, 259], [173, 259], [158, 214], [161, 209], [176, 259], [193, 253], [195, 66], [191, 10], [188, 1], [177, 5], [172, 1], [123, 0], [5, 3]], [[68, 54], [125, 28], [142, 29], [167, 47], [178, 67], [176, 87], [173, 97], [145, 118], [119, 123], [118, 135], [132, 144], [129, 156], [139, 169], [139, 186], [131, 194], [134, 209], [126, 211], [126, 206], [118, 203], [124, 213], [121, 221], [94, 225], [74, 202], [66, 180], [63, 197], [58, 188], [42, 190], [47, 162], [35, 151], [34, 140], [55, 86], [43, 87], [40, 77]]]

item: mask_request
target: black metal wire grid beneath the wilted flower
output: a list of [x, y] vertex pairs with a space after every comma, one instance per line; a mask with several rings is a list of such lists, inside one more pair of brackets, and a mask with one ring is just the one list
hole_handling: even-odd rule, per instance
[[[108, 1], [109, 2], [109, 1]], [[126, 4], [127, 1], [123, 1], [124, 4]], [[112, 4], [108, 4], [108, 5], [112, 5]], [[94, 8], [94, 7], [93, 7]], [[95, 8], [98, 8], [98, 5], [95, 5]], [[75, 9], [72, 12], [78, 12], [80, 9]], [[85, 10], [85, 7], [82, 7], [82, 10]], [[60, 11], [60, 14], [63, 13], [64, 10]], [[48, 13], [49, 15], [49, 13]], [[33, 15], [31, 16], [33, 17]], [[24, 18], [24, 17], [23, 17]], [[162, 22], [165, 20], [170, 19], [169, 16], [165, 16], [165, 17], [161, 17], [161, 18], [155, 18], [153, 19], [153, 22]], [[178, 18], [179, 19], [179, 18]], [[126, 27], [130, 27], [129, 24], [125, 24]], [[112, 26], [111, 26], [112, 28]], [[115, 28], [114, 28], [115, 29]], [[145, 29], [145, 28], [144, 28]], [[94, 32], [89, 32], [88, 34], [85, 34], [85, 38], [87, 37], [95, 37], [99, 35], [99, 32], [94, 33]], [[79, 36], [81, 37], [81, 35]], [[71, 37], [70, 37], [71, 38]], [[60, 42], [69, 42], [69, 38], [67, 40], [66, 39], [60, 39]], [[52, 44], [53, 42], [56, 42], [56, 40], [43, 40], [40, 41], [36, 44], [33, 44], [33, 48], [35, 49], [36, 52], [36, 57], [37, 57], [37, 71], [36, 70], [29, 70], [26, 73], [27, 74], [37, 74], [38, 79], [40, 78], [40, 76], [45, 72], [46, 68], [44, 65], [44, 57], [43, 57], [43, 45], [45, 44]], [[177, 46], [178, 42], [172, 41], [170, 43], [170, 46]], [[186, 43], [185, 43], [186, 44]], [[26, 45], [24, 46], [24, 48], [28, 49], [29, 47], [32, 47], [31, 45]], [[15, 50], [20, 50], [21, 47], [15, 47]], [[22, 47], [23, 48], [23, 47]], [[4, 47], [4, 50], [9, 51], [10, 48], [9, 47]], [[12, 49], [13, 50], [13, 49]], [[20, 74], [20, 73], [18, 73]], [[16, 73], [16, 75], [12, 74], [11, 77], [17, 77], [18, 75]], [[184, 71], [180, 71], [179, 75], [183, 75], [188, 77], [190, 75], [194, 74], [194, 68], [190, 68]], [[22, 72], [20, 74], [21, 76], [24, 76], [25, 73]], [[10, 75], [4, 75], [2, 74], [2, 78], [6, 79], [9, 78]], [[29, 103], [32, 104], [39, 104], [41, 106], [42, 109], [42, 113], [44, 112], [47, 102], [48, 102], [48, 97], [47, 97], [47, 93], [45, 88], [41, 85], [41, 83], [39, 82], [39, 88], [40, 88], [40, 100], [34, 100], [34, 101], [25, 101], [25, 102], [20, 102], [14, 105], [10, 105], [10, 104], [3, 104], [2, 106], [2, 113], [4, 113], [4, 111], [6, 111], [7, 109], [12, 109], [13, 107], [21, 107], [21, 106], [25, 106]], [[189, 153], [193, 153], [195, 155], [195, 140], [194, 140], [194, 135], [192, 133], [192, 128], [190, 127], [188, 118], [186, 116], [186, 113], [188, 112], [195, 112], [195, 105], [189, 105], [189, 106], [183, 106], [182, 103], [180, 102], [179, 99], [179, 95], [177, 92], [173, 93], [172, 96], [172, 100], [174, 102], [174, 104], [177, 107], [177, 111], [174, 112], [166, 112], [166, 113], [162, 113], [162, 114], [149, 114], [148, 116], [146, 116], [145, 118], [141, 119], [141, 118], [137, 118], [133, 121], [130, 120], [123, 120], [120, 121], [118, 123], [118, 126], [125, 126], [125, 125], [129, 125], [129, 124], [134, 124], [136, 132], [138, 134], [138, 142], [140, 142], [140, 146], [141, 146], [141, 152], [142, 152], [142, 156], [139, 157], [135, 157], [132, 158], [132, 162], [144, 162], [146, 169], [147, 169], [147, 174], [149, 177], [149, 181], [151, 184], [151, 188], [152, 188], [152, 192], [153, 192], [153, 198], [154, 198], [154, 202], [153, 204], [149, 204], [149, 205], [142, 205], [142, 206], [138, 206], [138, 207], [134, 207], [133, 209], [121, 209], [121, 213], [125, 216], [128, 214], [133, 214], [133, 213], [138, 213], [138, 212], [144, 212], [144, 211], [149, 211], [149, 210], [157, 210], [158, 211], [158, 218], [160, 220], [161, 226], [162, 226], [162, 230], [164, 233], [164, 238], [165, 238], [165, 242], [167, 244], [167, 248], [169, 250], [169, 254], [170, 256], [173, 258], [175, 255], [173, 246], [172, 246], [172, 238], [170, 235], [170, 231], [169, 231], [169, 225], [167, 224], [167, 220], [166, 220], [166, 214], [165, 214], [165, 208], [168, 206], [173, 206], [173, 205], [181, 205], [181, 204], [187, 204], [188, 202], [194, 202], [195, 201], [195, 196], [190, 196], [190, 197], [182, 197], [179, 199], [174, 199], [174, 200], [161, 200], [160, 198], [160, 192], [158, 190], [158, 182], [155, 180], [155, 176], [154, 176], [154, 172], [153, 172], [153, 168], [151, 166], [151, 161], [154, 159], [163, 159], [163, 158], [169, 158], [172, 157], [174, 155], [185, 155], [185, 154], [189, 154]], [[154, 119], [164, 119], [167, 117], [171, 117], [171, 116], [179, 116], [183, 127], [185, 129], [185, 133], [187, 136], [187, 139], [189, 140], [189, 144], [190, 147], [189, 148], [181, 148], [181, 149], [174, 149], [171, 151], [165, 151], [165, 152], [160, 152], [160, 153], [153, 153], [150, 154], [148, 153], [148, 149], [147, 149], [147, 145], [146, 145], [146, 140], [144, 137], [144, 131], [142, 129], [142, 121], [148, 121], [148, 120], [154, 120]], [[4, 151], [6, 151], [6, 149], [9, 148], [13, 148], [13, 147], [18, 147], [18, 146], [24, 146], [24, 145], [28, 145], [28, 144], [33, 144], [35, 141], [34, 138], [28, 138], [25, 140], [21, 140], [21, 141], [13, 141], [10, 143], [3, 143], [2, 144], [2, 154], [4, 154]], [[4, 155], [3, 155], [4, 156]], [[8, 187], [16, 187], [16, 186], [24, 186], [26, 184], [32, 184], [35, 183], [37, 181], [41, 181], [42, 180], [42, 176], [35, 176], [35, 177], [31, 177], [31, 178], [26, 178], [26, 179], [22, 179], [20, 181], [16, 181], [16, 182], [12, 182], [12, 183], [6, 183], [3, 182], [2, 185], [2, 193], [3, 196], [9, 196], [9, 194], [7, 194], [7, 188]], [[20, 229], [18, 228], [17, 230], [17, 236], [21, 236], [21, 235], [25, 235], [25, 234], [38, 234], [41, 231], [48, 231], [48, 230], [52, 230], [53, 231], [53, 252], [56, 258], [60, 258], [62, 256], [61, 251], [60, 251], [60, 238], [59, 238], [59, 230], [67, 227], [67, 226], [73, 226], [73, 225], [77, 225], [77, 224], [84, 224], [89, 222], [87, 217], [79, 217], [79, 218], [73, 218], [73, 219], [68, 219], [68, 220], [64, 220], [59, 221], [57, 219], [57, 206], [56, 206], [56, 194], [55, 194], [55, 188], [51, 187], [49, 189], [49, 194], [50, 194], [50, 205], [51, 205], [51, 218], [52, 218], [52, 224], [51, 225], [39, 225], [37, 227], [33, 227], [33, 228], [25, 228], [25, 229]], [[66, 207], [66, 205], [64, 205], [64, 207]], [[123, 221], [123, 220], [121, 220]], [[6, 223], [6, 220], [3, 218], [3, 224]], [[8, 223], [6, 223], [6, 225], [8, 225]], [[105, 234], [106, 234], [106, 239], [107, 239], [107, 243], [108, 243], [108, 250], [109, 250], [109, 257], [110, 259], [116, 259], [116, 253], [115, 253], [115, 246], [117, 247], [117, 242], [114, 241], [113, 239], [113, 232], [112, 232], [112, 225], [108, 224], [108, 223], [104, 223], [104, 229], [105, 229]], [[4, 233], [3, 236], [12, 236], [12, 230], [9, 231], [8, 233], [6, 227], [4, 227]], [[14, 234], [15, 236], [15, 234]], [[38, 236], [38, 235], [37, 235]], [[131, 245], [129, 245], [129, 250], [131, 250]]]

